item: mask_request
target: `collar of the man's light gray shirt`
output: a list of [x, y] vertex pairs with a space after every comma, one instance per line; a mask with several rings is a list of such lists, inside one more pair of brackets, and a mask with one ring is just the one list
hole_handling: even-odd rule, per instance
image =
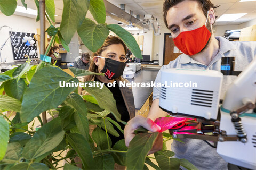
[[[236, 49], [236, 47], [232, 43], [230, 43], [230, 41], [228, 41], [226, 38], [217, 36], [217, 37], [215, 37], [215, 39], [217, 39], [220, 42], [220, 49], [219, 49], [219, 52], [217, 53], [217, 55], [224, 54], [226, 52], [229, 52], [230, 50]], [[193, 58], [191, 58], [190, 56], [188, 56], [184, 53], [181, 54], [180, 63], [181, 64], [196, 63], [196, 64], [204, 65], [202, 63], [195, 61]]]

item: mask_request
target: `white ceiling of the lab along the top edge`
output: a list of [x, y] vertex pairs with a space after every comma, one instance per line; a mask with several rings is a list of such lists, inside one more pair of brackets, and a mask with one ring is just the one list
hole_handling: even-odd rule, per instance
[[[125, 11], [130, 13], [130, 10], [133, 11], [133, 16], [137, 14], [140, 15], [140, 20], [143, 19], [145, 14], [154, 15], [161, 25], [164, 25], [162, 19], [162, 4], [163, 0], [108, 0], [110, 3], [120, 7], [120, 4], [125, 4]], [[211, 2], [214, 5], [220, 5], [217, 8], [217, 16], [220, 17], [222, 14], [235, 14], [235, 13], [248, 13], [242, 18], [237, 19], [236, 21], [230, 22], [216, 22], [215, 25], [237, 25], [244, 22], [256, 19], [256, 1], [251, 2], [239, 2], [240, 0], [212, 0]], [[34, 0], [26, 0], [28, 8], [36, 9]], [[63, 1], [55, 0], [55, 20], [61, 22], [61, 15], [63, 9]], [[18, 1], [18, 5], [22, 6], [21, 1]], [[90, 12], [87, 14], [87, 18], [92, 16]], [[106, 19], [106, 23], [115, 24], [118, 21], [111, 18]]]

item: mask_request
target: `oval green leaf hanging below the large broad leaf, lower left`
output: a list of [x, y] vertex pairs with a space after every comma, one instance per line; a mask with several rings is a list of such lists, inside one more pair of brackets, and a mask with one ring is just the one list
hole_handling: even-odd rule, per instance
[[35, 159], [57, 147], [64, 137], [65, 131], [60, 125], [60, 118], [54, 118], [42, 126], [24, 147], [23, 157]]

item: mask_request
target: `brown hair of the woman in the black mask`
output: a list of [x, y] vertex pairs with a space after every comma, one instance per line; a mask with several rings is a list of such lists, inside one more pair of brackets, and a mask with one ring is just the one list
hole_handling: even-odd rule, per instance
[[[124, 44], [124, 42], [119, 38], [119, 37], [115, 37], [115, 36], [108, 36], [106, 38], [106, 40], [104, 41], [103, 45], [97, 50], [97, 52], [93, 53], [93, 57], [94, 56], [101, 56], [101, 53], [106, 50], [106, 48], [110, 45], [113, 45], [113, 44], [122, 44], [123, 47], [124, 47], [124, 52], [126, 54], [127, 52], [127, 47], [126, 45]], [[95, 73], [98, 73], [98, 66], [95, 65], [94, 62], [92, 62], [89, 66], [89, 71], [92, 71], [92, 72], [95, 72]], [[92, 80], [92, 78], [94, 77], [94, 75], [88, 75], [86, 77], [86, 81], [90, 81]]]

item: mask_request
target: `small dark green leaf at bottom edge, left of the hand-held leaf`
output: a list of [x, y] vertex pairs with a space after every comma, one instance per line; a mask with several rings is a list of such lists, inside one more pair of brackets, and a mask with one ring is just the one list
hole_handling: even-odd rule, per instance
[[115, 160], [110, 154], [94, 157], [94, 164], [97, 169], [114, 169]]

